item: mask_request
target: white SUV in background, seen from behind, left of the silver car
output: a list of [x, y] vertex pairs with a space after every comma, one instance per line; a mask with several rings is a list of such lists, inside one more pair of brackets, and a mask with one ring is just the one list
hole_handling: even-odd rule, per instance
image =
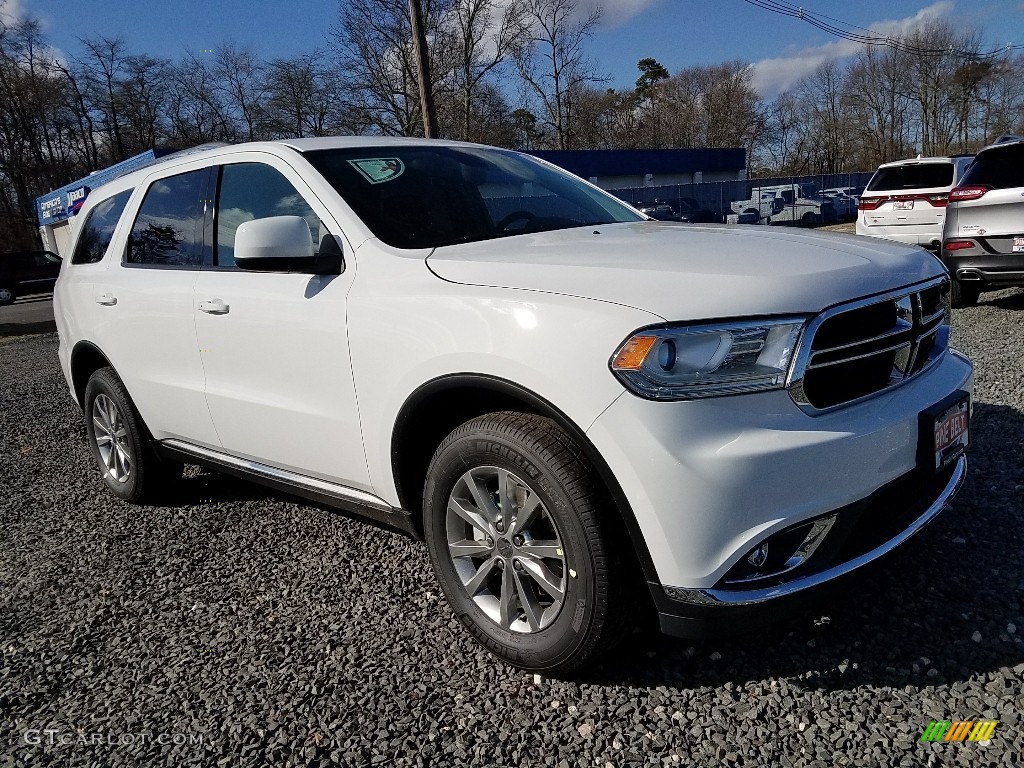
[[884, 163], [857, 203], [857, 234], [897, 240], [938, 250], [949, 190], [972, 156]]

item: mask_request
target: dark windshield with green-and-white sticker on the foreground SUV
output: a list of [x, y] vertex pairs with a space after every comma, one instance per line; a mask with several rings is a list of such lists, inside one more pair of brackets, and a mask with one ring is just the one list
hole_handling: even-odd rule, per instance
[[577, 177], [504, 150], [361, 146], [304, 157], [395, 248], [644, 220]]

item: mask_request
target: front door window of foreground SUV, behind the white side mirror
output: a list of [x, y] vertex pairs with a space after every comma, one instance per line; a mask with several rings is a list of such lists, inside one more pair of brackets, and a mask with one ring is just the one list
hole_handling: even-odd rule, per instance
[[313, 249], [328, 234], [319, 217], [279, 171], [262, 163], [221, 167], [217, 200], [217, 266], [234, 266], [234, 233], [241, 224], [268, 216], [301, 216], [309, 224]]

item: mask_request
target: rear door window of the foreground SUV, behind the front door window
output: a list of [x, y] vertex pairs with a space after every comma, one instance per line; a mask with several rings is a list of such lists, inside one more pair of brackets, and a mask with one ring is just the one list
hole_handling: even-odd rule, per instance
[[207, 169], [158, 179], [145, 193], [135, 217], [129, 264], [201, 266]]

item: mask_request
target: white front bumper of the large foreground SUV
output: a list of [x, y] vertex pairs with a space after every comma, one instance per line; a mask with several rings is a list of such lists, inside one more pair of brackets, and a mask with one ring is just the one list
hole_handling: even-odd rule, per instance
[[[971, 362], [949, 352], [899, 387], [816, 416], [801, 411], [785, 391], [680, 402], [626, 393], [588, 436], [636, 518], [654, 571], [648, 568], [647, 578], [655, 601], [671, 594], [691, 599], [672, 600], [668, 607], [774, 603], [785, 592], [777, 586], [744, 596], [718, 591], [732, 584], [737, 566], [759, 543], [839, 516], [913, 476], [920, 414], [972, 388]], [[947, 496], [957, 486], [954, 482]], [[903, 528], [913, 528], [916, 517], [937, 502], [931, 517], [938, 514], [944, 495], [945, 485], [928, 498], [900, 497], [901, 510], [923, 505], [920, 513], [857, 556], [882, 547], [868, 558], [873, 559], [905, 541]], [[791, 577], [805, 572], [801, 566]], [[814, 584], [840, 574], [819, 574]]]

